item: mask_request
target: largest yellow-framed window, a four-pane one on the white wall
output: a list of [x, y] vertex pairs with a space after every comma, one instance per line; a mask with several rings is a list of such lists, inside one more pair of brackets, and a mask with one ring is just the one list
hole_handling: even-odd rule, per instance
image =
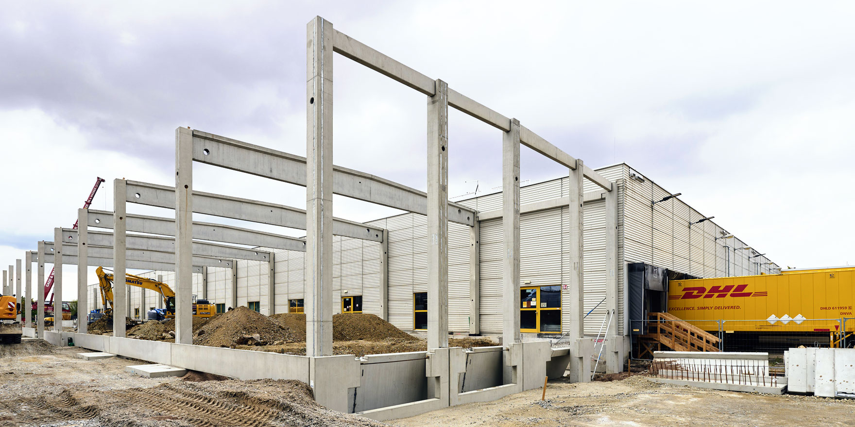
[[561, 333], [561, 286], [520, 289], [520, 332]]

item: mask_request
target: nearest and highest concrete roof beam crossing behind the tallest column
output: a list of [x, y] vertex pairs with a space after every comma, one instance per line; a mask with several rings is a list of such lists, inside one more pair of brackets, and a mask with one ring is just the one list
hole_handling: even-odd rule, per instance
[[[312, 106], [314, 104], [310, 104]], [[289, 184], [306, 186], [308, 182], [304, 157], [206, 132], [193, 131], [193, 160]], [[428, 195], [424, 191], [369, 173], [332, 167], [334, 194], [407, 212], [428, 213]], [[469, 226], [473, 224], [475, 215], [472, 208], [454, 202], [447, 203], [448, 220]]]

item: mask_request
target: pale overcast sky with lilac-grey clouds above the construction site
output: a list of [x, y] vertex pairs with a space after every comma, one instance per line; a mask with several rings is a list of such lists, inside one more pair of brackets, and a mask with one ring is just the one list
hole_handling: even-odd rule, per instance
[[[174, 184], [178, 126], [305, 155], [315, 15], [591, 167], [627, 162], [781, 266], [855, 263], [855, 3], [2, 8], [3, 269], [71, 226], [97, 176], [108, 179], [98, 209], [112, 209], [114, 178]], [[342, 56], [334, 84], [334, 162], [425, 190], [426, 97]], [[451, 196], [498, 190], [497, 129], [451, 109], [449, 155]], [[523, 184], [564, 173], [522, 150]], [[204, 165], [194, 174], [197, 190], [305, 204], [302, 187]], [[360, 221], [394, 212], [341, 197], [334, 209]], [[76, 273], [64, 271], [69, 300]]]

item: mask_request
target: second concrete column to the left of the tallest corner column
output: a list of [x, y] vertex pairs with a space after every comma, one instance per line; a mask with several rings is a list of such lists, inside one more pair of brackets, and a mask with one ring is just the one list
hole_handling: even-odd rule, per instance
[[[178, 192], [178, 191], [176, 191]], [[125, 249], [127, 212], [125, 201], [127, 184], [124, 179], [113, 180], [113, 336], [125, 337], [125, 318], [128, 314], [127, 284], [125, 284]], [[104, 307], [106, 308], [106, 307]]]

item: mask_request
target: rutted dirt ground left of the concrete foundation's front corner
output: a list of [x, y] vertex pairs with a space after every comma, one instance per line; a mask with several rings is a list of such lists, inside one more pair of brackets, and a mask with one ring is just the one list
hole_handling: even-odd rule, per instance
[[[85, 361], [80, 348], [41, 340], [0, 346], [0, 425], [9, 426], [381, 426], [321, 407], [297, 381], [145, 378], [136, 360]], [[221, 379], [221, 378], [219, 378]]]

